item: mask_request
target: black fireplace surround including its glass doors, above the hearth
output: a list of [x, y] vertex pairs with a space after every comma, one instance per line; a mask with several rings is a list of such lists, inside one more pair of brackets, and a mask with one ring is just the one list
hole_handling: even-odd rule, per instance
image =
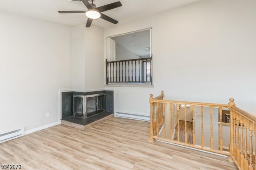
[[62, 92], [62, 119], [87, 118], [101, 112], [114, 113], [113, 91]]

